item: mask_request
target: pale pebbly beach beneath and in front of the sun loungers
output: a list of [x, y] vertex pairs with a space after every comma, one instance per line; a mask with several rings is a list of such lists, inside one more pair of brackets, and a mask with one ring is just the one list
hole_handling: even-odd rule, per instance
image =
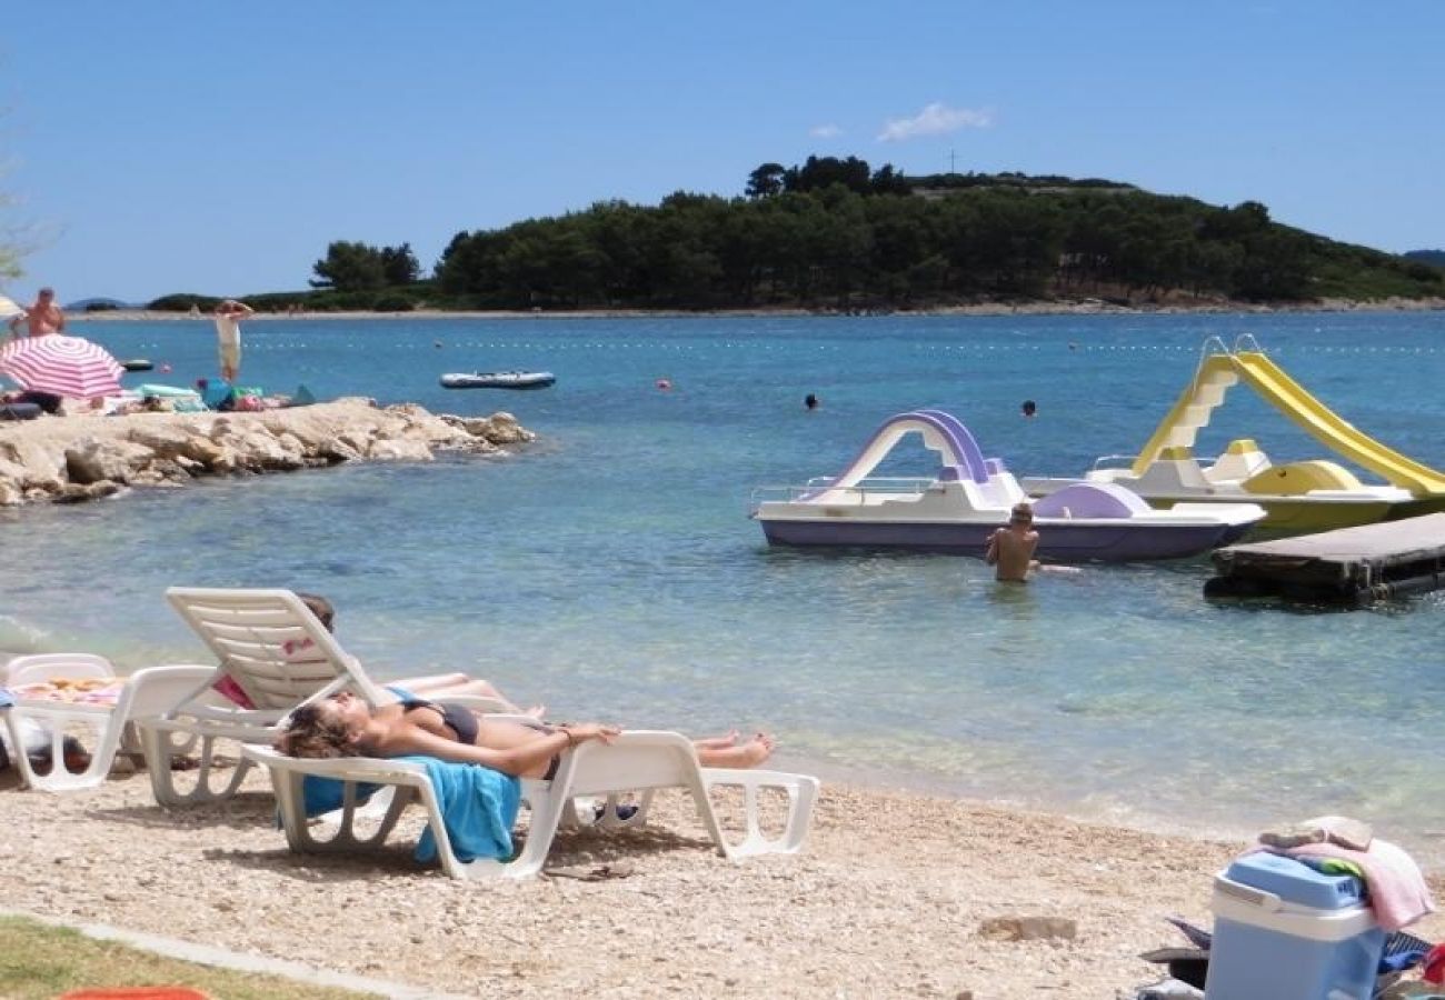
[[[1139, 952], [1183, 944], [1165, 916], [1212, 923], [1211, 876], [1244, 847], [825, 785], [795, 857], [730, 863], [666, 793], [653, 829], [562, 835], [548, 866], [623, 877], [467, 883], [402, 841], [290, 854], [266, 779], [246, 788], [186, 811], [158, 806], [144, 776], [7, 788], [0, 905], [477, 997], [1104, 999], [1159, 977]], [[1077, 931], [987, 926], [1009, 918]], [[1445, 919], [1412, 929], [1438, 938]]]

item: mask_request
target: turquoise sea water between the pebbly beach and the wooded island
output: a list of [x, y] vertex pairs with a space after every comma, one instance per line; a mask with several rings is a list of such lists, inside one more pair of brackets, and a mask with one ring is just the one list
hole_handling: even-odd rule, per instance
[[[215, 364], [208, 322], [75, 325], [182, 384]], [[0, 649], [204, 660], [168, 585], [289, 585], [329, 595], [381, 676], [467, 669], [565, 717], [767, 728], [783, 764], [840, 779], [1230, 831], [1348, 812], [1425, 842], [1445, 821], [1445, 594], [1211, 604], [1207, 559], [998, 587], [968, 558], [769, 551], [746, 517], [754, 486], [835, 473], [919, 406], [1020, 474], [1079, 474], [1143, 444], [1205, 337], [1241, 332], [1445, 468], [1441, 314], [251, 322], [246, 383], [504, 408], [540, 441], [0, 512]], [[436, 386], [478, 367], [558, 384]], [[1199, 454], [1233, 436], [1322, 457], [1244, 389]]]

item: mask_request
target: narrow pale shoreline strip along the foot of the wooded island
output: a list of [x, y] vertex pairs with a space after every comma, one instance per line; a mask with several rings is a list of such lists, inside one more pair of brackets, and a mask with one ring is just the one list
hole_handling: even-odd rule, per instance
[[[980, 305], [935, 306], [919, 309], [890, 309], [864, 314], [848, 314], [840, 309], [827, 308], [756, 308], [756, 309], [410, 309], [406, 312], [256, 312], [246, 318], [246, 322], [275, 322], [275, 321], [327, 321], [327, 319], [707, 319], [712, 316], [756, 316], [766, 318], [803, 318], [803, 316], [838, 316], [864, 319], [874, 315], [889, 316], [1092, 316], [1092, 315], [1217, 315], [1217, 314], [1246, 314], [1269, 315], [1274, 312], [1436, 312], [1445, 311], [1442, 299], [1319, 299], [1305, 303], [1251, 303], [1251, 302], [1220, 302], [1209, 305], [1113, 305], [1107, 302], [1022, 302], [1003, 303], [988, 302]], [[159, 312], [153, 309], [104, 309], [97, 312], [72, 312], [69, 322], [204, 322], [211, 324], [212, 316], [201, 314], [192, 316], [185, 312]]]

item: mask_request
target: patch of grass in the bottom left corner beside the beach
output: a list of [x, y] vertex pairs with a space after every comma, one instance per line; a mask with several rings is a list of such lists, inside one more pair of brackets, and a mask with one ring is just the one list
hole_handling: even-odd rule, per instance
[[116, 986], [185, 986], [218, 1000], [357, 1000], [353, 993], [163, 958], [95, 941], [66, 928], [0, 918], [0, 997], [51, 1000], [69, 990]]

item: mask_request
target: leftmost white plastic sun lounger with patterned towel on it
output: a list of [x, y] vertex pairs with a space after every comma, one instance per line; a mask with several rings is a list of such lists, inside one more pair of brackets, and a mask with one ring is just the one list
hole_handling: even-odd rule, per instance
[[[4, 684], [16, 692], [16, 702], [0, 710], [0, 715], [16, 749], [20, 779], [42, 792], [95, 788], [105, 780], [117, 753], [139, 751], [133, 724], [176, 705], [195, 686], [199, 675], [197, 668], [155, 666], [121, 678], [116, 676], [110, 660], [91, 653], [14, 658], [7, 666]], [[71, 684], [59, 686], [56, 681], [104, 686], [107, 697], [87, 697], [82, 688]], [[32, 688], [30, 694], [26, 694], [27, 688]], [[51, 769], [46, 773], [39, 773], [25, 753], [26, 723], [49, 731]], [[65, 737], [71, 730], [81, 730], [88, 737], [82, 743], [87, 744], [90, 764], [78, 772], [65, 763]]]

